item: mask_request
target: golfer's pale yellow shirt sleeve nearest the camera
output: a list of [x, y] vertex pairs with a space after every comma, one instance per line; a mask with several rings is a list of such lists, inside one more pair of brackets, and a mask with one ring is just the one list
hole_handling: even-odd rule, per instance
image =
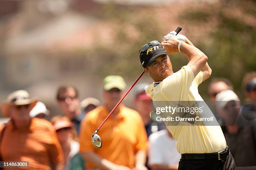
[[169, 101], [186, 101], [193, 80], [194, 74], [191, 68], [185, 65], [163, 80], [161, 92]]

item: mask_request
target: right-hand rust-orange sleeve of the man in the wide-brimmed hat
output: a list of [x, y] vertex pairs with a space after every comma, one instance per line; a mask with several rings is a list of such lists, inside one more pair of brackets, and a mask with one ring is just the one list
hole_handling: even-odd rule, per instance
[[49, 148], [49, 156], [51, 162], [55, 165], [59, 163], [64, 163], [64, 156], [62, 153], [61, 145], [59, 144], [59, 140], [56, 134], [56, 131], [53, 127], [50, 128], [51, 131], [51, 138], [52, 138], [52, 144]]

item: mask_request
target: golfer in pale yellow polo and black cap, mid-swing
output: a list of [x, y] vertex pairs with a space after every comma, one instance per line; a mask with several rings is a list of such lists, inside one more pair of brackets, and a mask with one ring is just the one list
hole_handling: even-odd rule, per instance
[[[182, 52], [189, 62], [173, 72], [170, 54]], [[151, 41], [139, 52], [144, 71], [154, 80], [146, 92], [155, 101], [203, 101], [198, 85], [211, 75], [207, 56], [188, 39]], [[235, 170], [220, 126], [167, 126], [181, 153], [178, 170]]]

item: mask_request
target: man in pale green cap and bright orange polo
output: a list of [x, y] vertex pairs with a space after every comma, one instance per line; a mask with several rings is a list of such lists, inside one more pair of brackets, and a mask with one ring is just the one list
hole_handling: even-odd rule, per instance
[[103, 84], [104, 104], [88, 112], [81, 124], [80, 152], [87, 160], [87, 169], [147, 170], [147, 135], [141, 116], [135, 110], [119, 105], [97, 133], [102, 148], [92, 145], [92, 133], [115, 107], [125, 89], [120, 76], [107, 76]]

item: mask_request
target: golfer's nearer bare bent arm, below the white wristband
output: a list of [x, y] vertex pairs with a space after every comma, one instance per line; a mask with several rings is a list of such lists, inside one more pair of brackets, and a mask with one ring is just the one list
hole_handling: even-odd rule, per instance
[[191, 68], [194, 77], [196, 77], [202, 68], [205, 67], [207, 56], [197, 47], [187, 43], [181, 43], [180, 52], [187, 56], [189, 60], [187, 65]]

